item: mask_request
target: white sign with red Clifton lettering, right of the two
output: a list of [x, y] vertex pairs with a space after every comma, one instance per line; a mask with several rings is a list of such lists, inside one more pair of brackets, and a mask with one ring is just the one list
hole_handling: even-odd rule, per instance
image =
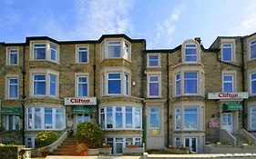
[[209, 93], [208, 99], [247, 99], [248, 92], [237, 92], [237, 93]]

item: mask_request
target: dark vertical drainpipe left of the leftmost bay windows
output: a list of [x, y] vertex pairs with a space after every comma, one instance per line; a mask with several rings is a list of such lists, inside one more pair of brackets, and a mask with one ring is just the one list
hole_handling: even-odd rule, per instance
[[26, 75], [26, 68], [25, 68], [25, 45], [23, 46], [23, 67], [22, 67], [22, 139], [23, 144], [25, 145], [25, 104], [26, 104], [26, 92], [25, 92], [25, 75]]

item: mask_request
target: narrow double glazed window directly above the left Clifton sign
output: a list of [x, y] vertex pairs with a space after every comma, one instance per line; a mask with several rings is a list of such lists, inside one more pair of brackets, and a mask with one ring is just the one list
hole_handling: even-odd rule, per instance
[[77, 96], [88, 96], [87, 76], [77, 76]]

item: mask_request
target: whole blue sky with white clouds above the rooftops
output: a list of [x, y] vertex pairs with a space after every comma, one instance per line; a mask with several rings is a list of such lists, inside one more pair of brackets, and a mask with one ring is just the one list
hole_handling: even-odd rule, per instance
[[217, 36], [256, 32], [254, 0], [1, 0], [0, 41], [26, 36], [94, 40], [102, 34], [144, 38], [148, 49], [174, 48], [200, 36], [208, 48]]

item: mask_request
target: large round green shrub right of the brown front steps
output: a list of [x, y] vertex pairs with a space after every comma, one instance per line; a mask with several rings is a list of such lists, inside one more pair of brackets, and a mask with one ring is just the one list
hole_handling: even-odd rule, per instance
[[77, 139], [87, 145], [88, 148], [99, 148], [102, 140], [102, 131], [98, 124], [80, 123], [77, 124]]

